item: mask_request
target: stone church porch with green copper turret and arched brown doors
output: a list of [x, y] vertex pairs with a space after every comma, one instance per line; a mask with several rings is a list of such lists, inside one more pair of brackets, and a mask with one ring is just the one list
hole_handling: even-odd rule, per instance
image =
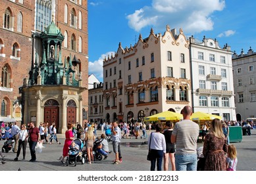
[[55, 122], [58, 133], [66, 131], [68, 123], [82, 124], [82, 87], [80, 60], [75, 56], [62, 60], [61, 30], [52, 21], [39, 35], [42, 43], [41, 61], [36, 53], [30, 77], [22, 87], [24, 122]]

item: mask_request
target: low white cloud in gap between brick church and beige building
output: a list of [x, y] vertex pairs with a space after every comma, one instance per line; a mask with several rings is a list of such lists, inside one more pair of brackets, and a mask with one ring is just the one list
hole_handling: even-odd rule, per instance
[[103, 60], [105, 57], [108, 57], [108, 55], [111, 56], [111, 53], [113, 53], [114, 55], [115, 52], [105, 53], [101, 55], [98, 60], [95, 60], [93, 62], [89, 61], [88, 74], [93, 74], [99, 81], [101, 81], [103, 79]]

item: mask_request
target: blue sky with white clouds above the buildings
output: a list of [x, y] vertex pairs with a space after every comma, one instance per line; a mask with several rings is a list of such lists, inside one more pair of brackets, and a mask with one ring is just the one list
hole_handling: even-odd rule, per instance
[[89, 74], [103, 81], [103, 58], [130, 47], [151, 28], [163, 34], [168, 24], [186, 36], [217, 39], [240, 53], [256, 51], [256, 1], [239, 0], [88, 0]]

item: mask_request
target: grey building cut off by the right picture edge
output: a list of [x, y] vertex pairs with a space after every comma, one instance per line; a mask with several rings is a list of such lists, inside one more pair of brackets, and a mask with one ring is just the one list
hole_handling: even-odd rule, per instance
[[256, 117], [256, 53], [250, 48], [232, 57], [236, 118], [238, 121]]

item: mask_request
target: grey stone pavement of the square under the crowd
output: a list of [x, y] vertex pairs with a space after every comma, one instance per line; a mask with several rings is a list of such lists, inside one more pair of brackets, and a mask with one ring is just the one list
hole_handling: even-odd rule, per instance
[[[253, 129], [251, 136], [243, 136], [242, 142], [232, 143], [236, 145], [238, 150], [238, 166], [239, 171], [256, 171], [256, 129]], [[98, 135], [101, 131], [97, 132]], [[5, 156], [5, 164], [0, 162], [0, 171], [17, 171], [19, 168], [23, 171], [147, 171], [150, 168], [150, 162], [146, 160], [147, 145], [144, 145], [144, 139], [122, 139], [121, 151], [123, 162], [113, 165], [115, 154], [111, 153], [107, 160], [95, 161], [92, 164], [82, 164], [78, 162], [76, 166], [66, 166], [61, 164], [58, 158], [62, 154], [64, 137], [58, 135], [61, 145], [54, 143], [52, 145], [44, 144], [43, 151], [37, 153], [36, 162], [28, 162], [30, 160], [30, 150], [26, 149], [26, 160], [22, 159], [15, 162], [13, 159], [16, 157], [14, 152], [2, 153]], [[5, 141], [0, 141], [0, 149], [3, 147]], [[202, 147], [202, 143], [198, 143], [197, 147]], [[112, 150], [112, 143], [109, 143], [109, 148]], [[0, 157], [1, 159], [1, 157]]]

